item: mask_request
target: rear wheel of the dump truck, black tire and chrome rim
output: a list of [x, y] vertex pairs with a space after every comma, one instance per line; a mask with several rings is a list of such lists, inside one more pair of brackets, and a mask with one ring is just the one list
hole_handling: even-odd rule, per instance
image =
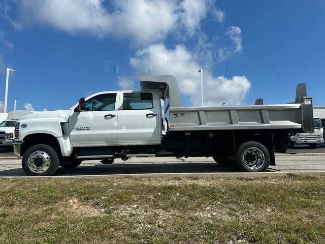
[[264, 171], [269, 167], [270, 161], [270, 152], [262, 143], [248, 141], [238, 148], [236, 163], [237, 167], [243, 172]]

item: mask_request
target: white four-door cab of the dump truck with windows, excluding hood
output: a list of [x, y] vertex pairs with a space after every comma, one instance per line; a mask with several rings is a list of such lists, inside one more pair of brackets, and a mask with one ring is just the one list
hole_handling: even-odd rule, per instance
[[148, 145], [161, 142], [161, 106], [156, 92], [101, 92], [71, 107], [73, 146]]

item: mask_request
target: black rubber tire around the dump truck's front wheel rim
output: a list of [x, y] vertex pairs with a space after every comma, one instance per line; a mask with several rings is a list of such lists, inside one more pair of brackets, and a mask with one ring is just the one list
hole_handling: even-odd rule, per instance
[[[39, 172], [39, 173], [33, 172], [28, 167], [28, 159], [29, 159], [29, 157], [31, 157], [32, 154], [34, 154], [36, 151], [43, 151], [44, 153], [46, 153], [49, 156], [49, 159], [50, 159], [50, 163], [48, 164], [48, 168], [46, 168], [46, 170], [44, 170], [42, 172]], [[30, 175], [30, 176], [50, 176], [50, 175], [53, 175], [57, 171], [57, 169], [59, 167], [59, 157], [58, 157], [56, 151], [53, 149], [53, 147], [51, 147], [49, 145], [45, 145], [45, 144], [37, 144], [37, 145], [29, 147], [25, 151], [25, 153], [23, 155], [23, 158], [22, 158], [22, 161], [21, 161], [21, 165], [22, 165], [22, 168], [23, 168], [24, 172], [27, 175]], [[34, 165], [34, 163], [33, 163], [33, 165]]]

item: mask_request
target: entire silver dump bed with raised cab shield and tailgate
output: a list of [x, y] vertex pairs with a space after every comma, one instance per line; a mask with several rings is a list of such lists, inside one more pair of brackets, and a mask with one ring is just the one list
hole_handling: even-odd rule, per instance
[[[155, 90], [169, 103], [165, 117], [171, 131], [301, 129], [314, 132], [312, 98], [307, 97], [306, 84], [296, 89], [290, 104], [183, 107], [174, 76], [139, 76], [142, 90]], [[256, 100], [261, 104], [263, 99]], [[169, 112], [169, 114], [168, 114]]]

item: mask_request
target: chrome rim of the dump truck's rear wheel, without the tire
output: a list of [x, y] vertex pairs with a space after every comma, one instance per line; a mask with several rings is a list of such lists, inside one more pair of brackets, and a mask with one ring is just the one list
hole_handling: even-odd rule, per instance
[[243, 163], [252, 170], [262, 168], [265, 163], [265, 155], [261, 149], [250, 147], [244, 152]]

